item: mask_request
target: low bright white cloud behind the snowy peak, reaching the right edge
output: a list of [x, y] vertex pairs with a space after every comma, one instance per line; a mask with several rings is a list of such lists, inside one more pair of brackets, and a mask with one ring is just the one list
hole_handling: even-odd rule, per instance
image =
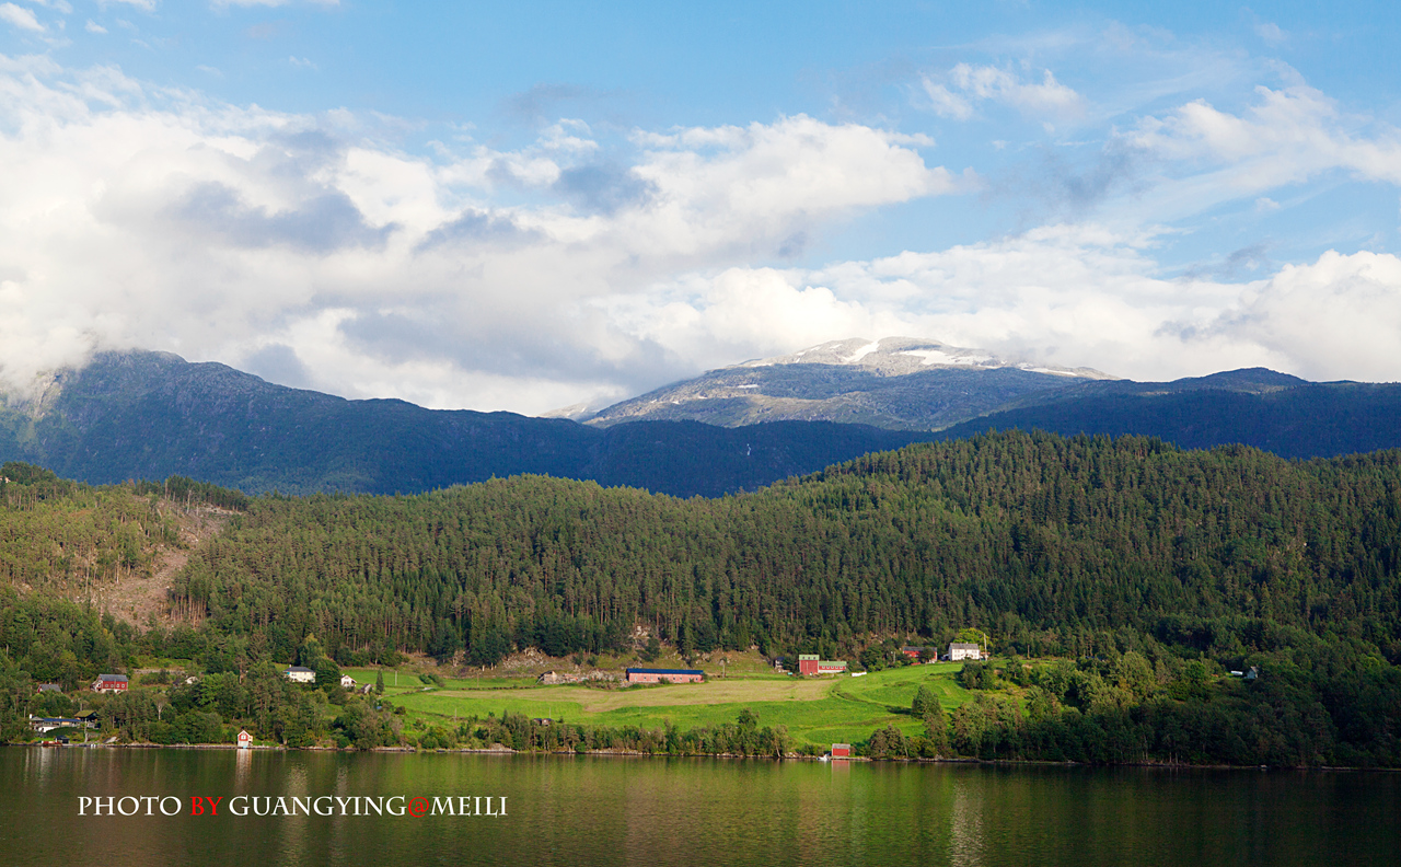
[[1264, 366], [1314, 380], [1401, 378], [1401, 259], [1324, 254], [1250, 283], [1168, 279], [1153, 234], [1042, 227], [947, 251], [821, 270], [730, 269], [668, 293], [615, 300], [637, 336], [698, 367], [853, 335], [953, 345], [1160, 380]]

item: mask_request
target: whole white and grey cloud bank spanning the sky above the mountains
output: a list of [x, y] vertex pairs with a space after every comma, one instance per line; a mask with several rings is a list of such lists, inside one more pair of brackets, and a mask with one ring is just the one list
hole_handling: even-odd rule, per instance
[[[56, 29], [49, 10], [0, 18]], [[1310, 185], [1394, 199], [1401, 182], [1394, 127], [1288, 67], [1240, 74], [1269, 81], [1229, 108], [1191, 83], [1111, 106], [1121, 94], [1051, 63], [969, 57], [911, 71], [898, 116], [618, 126], [539, 119], [551, 98], [525, 141], [415, 147], [412, 119], [0, 55], [0, 377], [146, 347], [352, 398], [539, 413], [919, 335], [1138, 380], [1401, 378], [1387, 244], [1325, 237], [1281, 263], [1262, 233], [1167, 261], [1233, 213], [1299, 214], [1324, 195]], [[985, 160], [960, 139], [979, 125], [1023, 140]], [[1009, 200], [1019, 226], [950, 242], [960, 211]], [[930, 241], [841, 241], [901, 214]]]

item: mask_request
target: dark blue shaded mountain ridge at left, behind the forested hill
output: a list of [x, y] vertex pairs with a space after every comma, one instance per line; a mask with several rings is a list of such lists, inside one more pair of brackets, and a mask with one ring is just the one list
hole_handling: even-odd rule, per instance
[[38, 398], [0, 396], [0, 461], [111, 483], [185, 475], [248, 493], [410, 493], [541, 473], [677, 496], [751, 490], [929, 434], [794, 422], [608, 430], [273, 385], [168, 353], [106, 353]]

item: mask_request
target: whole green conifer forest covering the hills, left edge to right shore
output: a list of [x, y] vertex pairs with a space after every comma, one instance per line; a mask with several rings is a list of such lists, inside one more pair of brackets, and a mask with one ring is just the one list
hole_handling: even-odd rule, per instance
[[[4, 475], [11, 709], [21, 672], [77, 679], [172, 643], [212, 672], [294, 660], [308, 636], [342, 665], [490, 665], [622, 647], [644, 625], [682, 654], [878, 664], [873, 646], [974, 627], [1028, 664], [968, 667], [975, 700], [926, 713], [915, 755], [1401, 765], [1401, 452], [985, 434], [710, 500], [544, 476], [301, 499], [175, 480], [234, 513], [174, 581], [198, 623], [175, 632], [46, 590], [139, 569], [144, 541], [172, 532], [170, 483]], [[1205, 686], [1251, 665], [1250, 685]], [[911, 755], [902, 738], [862, 748]]]

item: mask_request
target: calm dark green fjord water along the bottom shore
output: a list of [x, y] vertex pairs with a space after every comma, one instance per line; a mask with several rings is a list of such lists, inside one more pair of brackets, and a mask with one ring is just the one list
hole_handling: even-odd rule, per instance
[[[240, 794], [506, 815], [230, 815]], [[181, 815], [80, 817], [94, 796]], [[1398, 808], [1401, 776], [1362, 772], [0, 749], [3, 864], [1394, 864]]]

